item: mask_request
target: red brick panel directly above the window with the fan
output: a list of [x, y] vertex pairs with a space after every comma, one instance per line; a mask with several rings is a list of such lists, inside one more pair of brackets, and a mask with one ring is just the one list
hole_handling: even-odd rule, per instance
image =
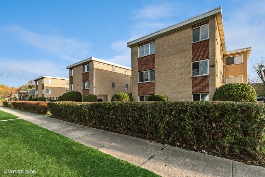
[[196, 42], [191, 45], [191, 61], [206, 60], [209, 58], [209, 40]]

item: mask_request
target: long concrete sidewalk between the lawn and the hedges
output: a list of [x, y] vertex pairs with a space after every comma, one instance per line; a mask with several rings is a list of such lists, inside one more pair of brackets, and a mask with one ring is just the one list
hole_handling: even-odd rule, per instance
[[[161, 176], [265, 176], [265, 168], [0, 106], [0, 110]], [[0, 122], [1, 126], [1, 122]]]

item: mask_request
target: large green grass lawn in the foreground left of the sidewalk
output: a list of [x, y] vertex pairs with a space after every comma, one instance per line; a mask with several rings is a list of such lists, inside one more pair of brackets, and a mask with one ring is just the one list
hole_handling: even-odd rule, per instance
[[23, 119], [0, 122], [0, 132], [0, 176], [158, 176]]

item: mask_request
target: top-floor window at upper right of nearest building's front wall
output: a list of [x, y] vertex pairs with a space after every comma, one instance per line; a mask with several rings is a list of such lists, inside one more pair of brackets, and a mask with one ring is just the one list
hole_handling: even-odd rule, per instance
[[192, 42], [197, 42], [209, 38], [209, 24], [192, 29]]

